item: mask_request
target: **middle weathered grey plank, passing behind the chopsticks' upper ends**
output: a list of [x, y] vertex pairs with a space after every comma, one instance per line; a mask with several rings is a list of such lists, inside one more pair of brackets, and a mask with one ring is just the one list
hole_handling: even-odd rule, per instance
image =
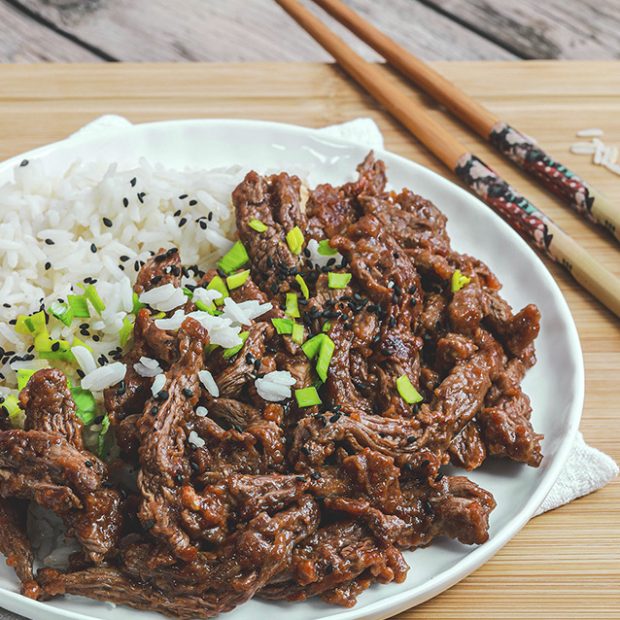
[[[330, 60], [272, 0], [11, 2], [27, 7], [62, 30], [123, 61]], [[514, 58], [495, 43], [418, 2], [349, 2], [425, 59]], [[378, 59], [345, 28], [323, 16], [356, 51], [369, 60]]]

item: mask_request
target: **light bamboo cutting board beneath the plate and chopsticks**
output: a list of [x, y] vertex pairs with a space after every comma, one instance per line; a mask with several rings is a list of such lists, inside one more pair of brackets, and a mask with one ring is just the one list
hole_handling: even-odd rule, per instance
[[[575, 131], [585, 127], [604, 129], [605, 140], [620, 146], [620, 62], [435, 66], [501, 118], [535, 136], [620, 208], [620, 176], [591, 165], [587, 157], [568, 153]], [[63, 138], [107, 113], [122, 114], [133, 122], [235, 117], [311, 127], [370, 116], [381, 127], [389, 150], [445, 174], [415, 139], [331, 65], [3, 65], [0, 85], [0, 159]], [[411, 96], [420, 95], [412, 90]], [[437, 106], [425, 103], [459, 140], [481, 153], [620, 275], [620, 246], [611, 238], [500, 160]], [[586, 403], [581, 429], [588, 442], [620, 461], [620, 323], [562, 270], [549, 268], [566, 295], [584, 350]], [[535, 518], [476, 573], [399, 616], [543, 617], [620, 618], [620, 481]]]

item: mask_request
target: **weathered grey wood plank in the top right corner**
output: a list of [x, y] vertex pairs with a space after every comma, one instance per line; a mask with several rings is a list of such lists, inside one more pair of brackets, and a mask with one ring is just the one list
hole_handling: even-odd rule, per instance
[[419, 0], [522, 58], [620, 58], [618, 0]]

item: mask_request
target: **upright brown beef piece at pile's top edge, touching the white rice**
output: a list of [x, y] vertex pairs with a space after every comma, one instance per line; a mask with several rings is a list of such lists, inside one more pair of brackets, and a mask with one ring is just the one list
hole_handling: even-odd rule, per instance
[[[249, 172], [233, 192], [237, 229], [252, 262], [252, 276], [269, 296], [292, 290], [302, 267], [302, 257], [293, 254], [286, 242], [293, 228], [307, 228], [300, 189], [301, 181], [284, 172], [271, 177]], [[257, 233], [251, 228], [254, 219], [267, 230]]]

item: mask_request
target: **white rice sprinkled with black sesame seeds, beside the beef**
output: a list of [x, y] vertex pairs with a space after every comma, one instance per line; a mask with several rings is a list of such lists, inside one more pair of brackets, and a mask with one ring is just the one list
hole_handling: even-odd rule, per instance
[[[17, 167], [14, 180], [0, 187], [0, 392], [15, 386], [17, 368], [47, 365], [29, 359], [32, 339], [17, 334], [10, 322], [65, 302], [72, 292], [80, 294], [78, 285], [90, 278], [106, 304], [103, 315], [91, 307], [90, 319], [74, 319], [70, 327], [51, 319], [50, 336], [69, 342], [77, 336], [93, 349], [89, 357], [74, 347], [93, 389], [105, 378], [120, 376], [118, 368], [102, 372], [100, 367], [118, 355], [119, 330], [132, 309], [141, 261], [159, 248], [177, 247], [185, 265], [202, 271], [213, 267], [235, 236], [230, 195], [242, 177], [239, 168], [175, 170], [145, 160], [124, 170], [76, 162], [64, 175], [48, 174], [37, 160]], [[195, 281], [184, 277], [182, 284]], [[205, 301], [214, 297], [213, 291], [199, 295]], [[186, 299], [170, 285], [142, 298], [162, 311]], [[255, 318], [258, 308], [235, 310], [220, 320], [196, 318], [218, 333], [222, 346], [234, 346], [240, 342], [238, 321]], [[162, 319], [160, 327], [178, 328], [183, 318], [177, 313]]]

